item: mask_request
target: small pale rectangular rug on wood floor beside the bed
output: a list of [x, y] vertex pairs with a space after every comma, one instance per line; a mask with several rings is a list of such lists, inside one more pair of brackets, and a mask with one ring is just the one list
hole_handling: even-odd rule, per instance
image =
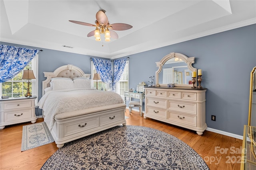
[[21, 151], [54, 142], [54, 139], [44, 121], [25, 125], [22, 128]]

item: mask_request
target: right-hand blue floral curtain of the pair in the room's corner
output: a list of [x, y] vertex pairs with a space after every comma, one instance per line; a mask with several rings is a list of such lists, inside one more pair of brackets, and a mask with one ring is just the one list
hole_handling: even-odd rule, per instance
[[116, 89], [116, 82], [118, 82], [124, 72], [126, 59], [114, 60], [114, 78], [113, 78], [113, 91]]

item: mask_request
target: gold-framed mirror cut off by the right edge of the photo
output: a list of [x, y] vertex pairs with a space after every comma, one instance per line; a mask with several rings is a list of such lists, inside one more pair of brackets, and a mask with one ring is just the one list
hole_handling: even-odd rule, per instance
[[248, 125], [256, 126], [256, 67], [252, 69], [250, 80]]

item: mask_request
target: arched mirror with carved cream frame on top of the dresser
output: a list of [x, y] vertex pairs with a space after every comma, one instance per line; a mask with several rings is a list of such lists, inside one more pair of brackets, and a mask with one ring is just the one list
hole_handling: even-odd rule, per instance
[[191, 74], [193, 71], [196, 72], [193, 63], [195, 57], [187, 57], [180, 53], [164, 56], [161, 61], [156, 62], [156, 84], [167, 87], [167, 84], [175, 83], [175, 87], [192, 87]]

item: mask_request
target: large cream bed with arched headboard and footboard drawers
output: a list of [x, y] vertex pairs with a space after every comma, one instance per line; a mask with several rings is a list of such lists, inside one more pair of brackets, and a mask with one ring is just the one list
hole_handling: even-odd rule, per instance
[[[71, 64], [44, 72], [38, 106], [58, 148], [117, 125], [126, 125], [119, 94], [92, 88], [90, 74]], [[73, 82], [73, 84], [72, 84]]]

